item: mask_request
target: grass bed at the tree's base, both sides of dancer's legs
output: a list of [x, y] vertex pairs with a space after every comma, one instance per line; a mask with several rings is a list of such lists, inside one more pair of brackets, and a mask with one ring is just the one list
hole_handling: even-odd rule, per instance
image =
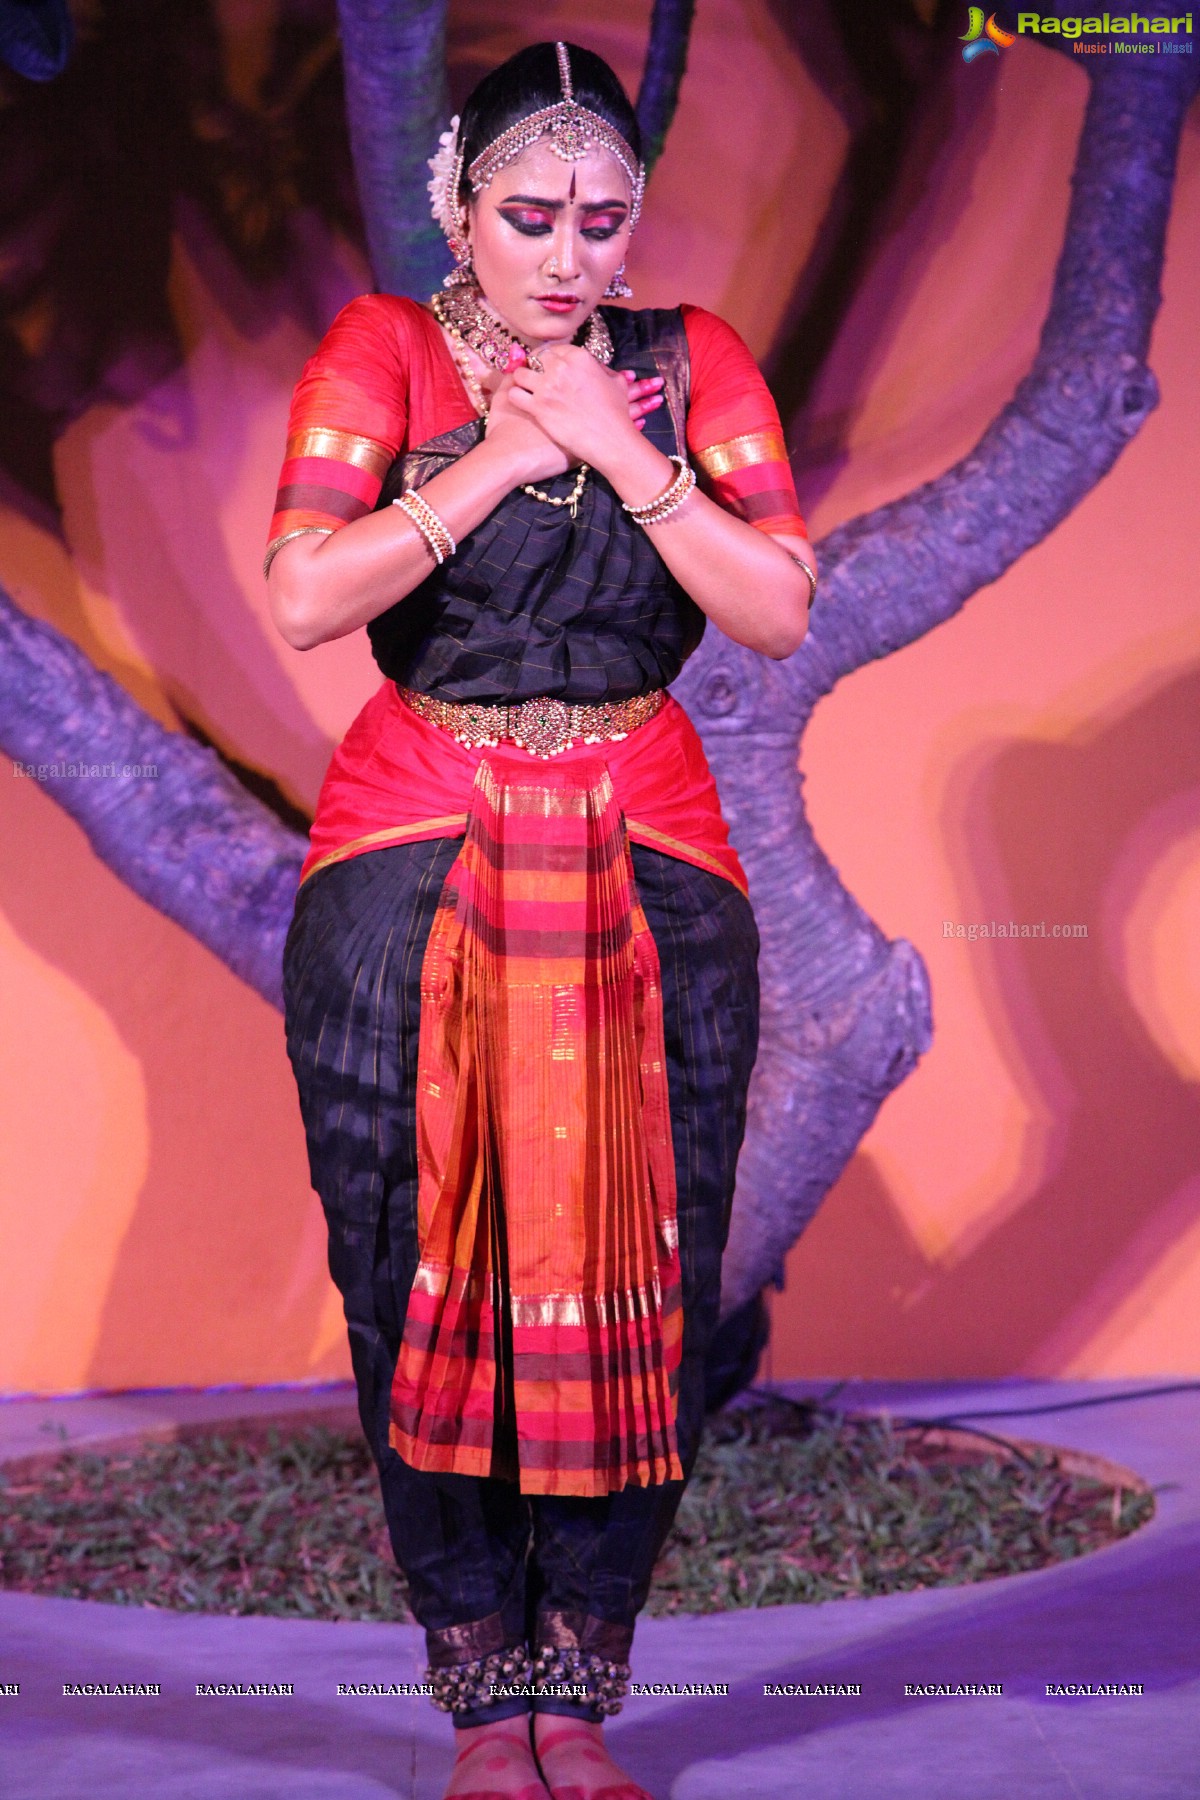
[[[1054, 1451], [939, 1442], [775, 1399], [709, 1420], [648, 1611], [941, 1588], [1128, 1537], [1153, 1496]], [[0, 1584], [203, 1613], [408, 1620], [351, 1427], [194, 1431], [0, 1471]]]

